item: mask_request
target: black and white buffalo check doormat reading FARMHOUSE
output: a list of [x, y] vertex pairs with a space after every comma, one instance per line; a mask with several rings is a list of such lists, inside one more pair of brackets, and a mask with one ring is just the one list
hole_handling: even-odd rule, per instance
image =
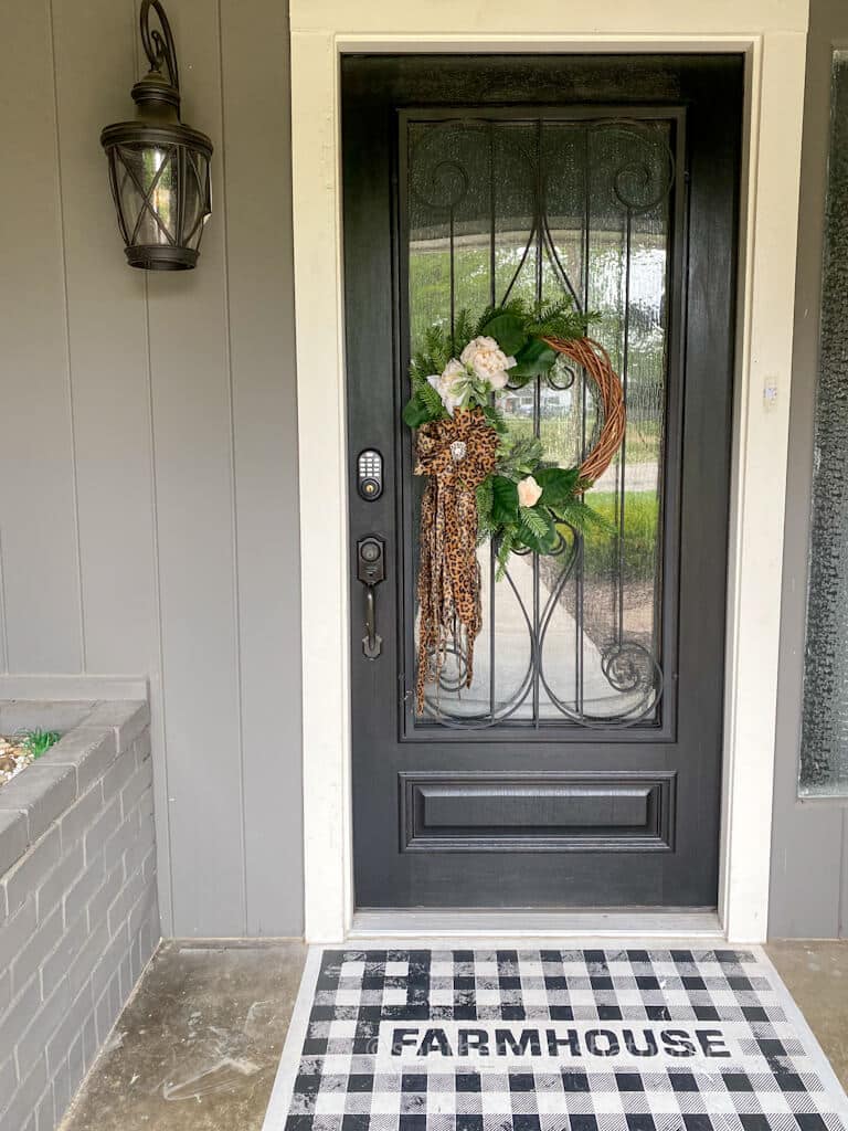
[[263, 1131], [848, 1131], [764, 953], [322, 949]]

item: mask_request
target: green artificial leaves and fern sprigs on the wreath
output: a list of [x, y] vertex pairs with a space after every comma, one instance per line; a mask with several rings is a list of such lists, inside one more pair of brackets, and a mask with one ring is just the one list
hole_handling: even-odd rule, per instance
[[[452, 415], [453, 403], [449, 402], [451, 407], [445, 405], [436, 383], [439, 374], [450, 373], [450, 366], [457, 372], [458, 359], [469, 343], [485, 338], [496, 344], [502, 354], [509, 355], [505, 361], [513, 361], [505, 371], [509, 387], [521, 388], [548, 373], [556, 362], [557, 353], [544, 339], [583, 337], [592, 317], [576, 311], [568, 299], [536, 308], [516, 299], [502, 307], [488, 307], [476, 320], [461, 311], [452, 333], [431, 326], [409, 365], [412, 397], [404, 408], [405, 423], [415, 429]], [[579, 468], [556, 466], [545, 459], [538, 437], [508, 430], [494, 403], [500, 390], [486, 375], [466, 364], [455, 380], [461, 395], [459, 407], [481, 409], [499, 434], [495, 470], [476, 489], [478, 537], [494, 539], [499, 578], [511, 553], [547, 554], [562, 544], [563, 527], [583, 530], [589, 525], [605, 525], [582, 500], [591, 483], [580, 477]], [[535, 495], [529, 504], [522, 504], [520, 485], [525, 485], [525, 498], [528, 490]]]

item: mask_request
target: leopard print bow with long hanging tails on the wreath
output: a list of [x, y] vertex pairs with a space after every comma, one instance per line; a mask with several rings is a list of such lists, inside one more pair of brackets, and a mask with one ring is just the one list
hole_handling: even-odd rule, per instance
[[474, 679], [474, 641], [483, 624], [477, 562], [476, 487], [495, 466], [497, 433], [479, 408], [418, 430], [416, 475], [429, 475], [421, 504], [418, 670], [416, 706], [424, 710], [429, 679], [441, 676], [453, 650], [465, 685]]

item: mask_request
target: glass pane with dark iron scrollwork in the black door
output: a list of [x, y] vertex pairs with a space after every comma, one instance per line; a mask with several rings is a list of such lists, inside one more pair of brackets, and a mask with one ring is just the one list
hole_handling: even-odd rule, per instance
[[[513, 555], [497, 586], [496, 546], [481, 550], [473, 685], [460, 644], [427, 683], [419, 723], [659, 722], [670, 129], [667, 119], [408, 123], [413, 343], [466, 305], [568, 296], [578, 311], [599, 309], [629, 415], [599, 483], [613, 533], [564, 525], [551, 553]], [[556, 435], [563, 466], [597, 444], [603, 414], [579, 360], [510, 391], [510, 428]]]

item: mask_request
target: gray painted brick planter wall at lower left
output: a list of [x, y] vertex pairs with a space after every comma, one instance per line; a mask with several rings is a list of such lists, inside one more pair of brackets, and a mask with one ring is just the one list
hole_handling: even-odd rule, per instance
[[0, 789], [0, 1131], [52, 1131], [159, 939], [149, 713], [21, 710], [76, 722]]

